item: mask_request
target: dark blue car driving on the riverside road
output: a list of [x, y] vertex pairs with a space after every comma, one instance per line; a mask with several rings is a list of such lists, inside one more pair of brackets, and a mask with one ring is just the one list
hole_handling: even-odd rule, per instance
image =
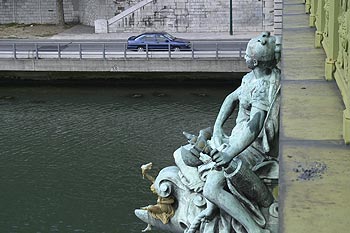
[[128, 38], [128, 47], [130, 50], [139, 52], [148, 50], [180, 51], [190, 50], [191, 42], [185, 39], [176, 38], [166, 32], [146, 32], [138, 36]]

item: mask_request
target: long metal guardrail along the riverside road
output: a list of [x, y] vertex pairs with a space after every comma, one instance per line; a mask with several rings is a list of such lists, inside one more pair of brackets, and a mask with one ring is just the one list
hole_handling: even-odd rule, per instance
[[189, 50], [168, 48], [127, 49], [124, 42], [6, 42], [0, 58], [6, 59], [228, 59], [243, 58], [247, 41], [192, 42]]

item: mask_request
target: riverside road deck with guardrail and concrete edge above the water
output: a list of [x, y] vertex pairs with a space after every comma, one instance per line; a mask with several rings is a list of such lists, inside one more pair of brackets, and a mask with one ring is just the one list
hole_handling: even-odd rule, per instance
[[247, 71], [246, 43], [192, 42], [188, 51], [139, 52], [127, 50], [124, 42], [6, 41], [0, 43], [0, 70], [111, 72], [116, 78], [123, 72], [237, 73]]

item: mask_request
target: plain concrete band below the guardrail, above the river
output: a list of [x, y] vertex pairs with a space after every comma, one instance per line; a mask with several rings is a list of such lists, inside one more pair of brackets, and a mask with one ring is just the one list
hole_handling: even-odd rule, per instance
[[52, 72], [247, 72], [243, 59], [16, 59], [0, 61], [1, 71]]

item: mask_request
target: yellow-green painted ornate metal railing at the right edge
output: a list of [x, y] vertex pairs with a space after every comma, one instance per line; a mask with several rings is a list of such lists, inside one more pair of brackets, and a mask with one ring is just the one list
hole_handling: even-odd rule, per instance
[[315, 47], [326, 53], [326, 80], [335, 79], [345, 104], [343, 137], [350, 144], [350, 0], [304, 0]]

